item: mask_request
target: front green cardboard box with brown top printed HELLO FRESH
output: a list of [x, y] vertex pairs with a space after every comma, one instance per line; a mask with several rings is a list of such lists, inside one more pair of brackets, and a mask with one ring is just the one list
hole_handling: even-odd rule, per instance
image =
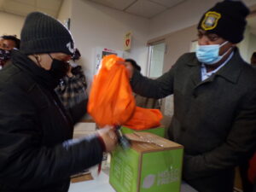
[[126, 134], [131, 148], [117, 148], [109, 183], [117, 192], [179, 192], [183, 146], [148, 132]]

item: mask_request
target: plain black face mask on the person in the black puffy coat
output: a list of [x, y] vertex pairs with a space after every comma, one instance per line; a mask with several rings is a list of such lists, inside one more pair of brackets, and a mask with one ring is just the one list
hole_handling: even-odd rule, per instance
[[49, 73], [54, 79], [62, 79], [67, 75], [67, 71], [69, 68], [69, 63], [67, 61], [56, 60], [49, 55], [52, 59], [51, 67], [49, 69]]

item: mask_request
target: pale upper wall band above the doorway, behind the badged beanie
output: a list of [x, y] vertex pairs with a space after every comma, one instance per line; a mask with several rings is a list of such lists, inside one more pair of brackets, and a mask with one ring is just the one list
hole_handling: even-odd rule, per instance
[[[157, 38], [176, 32], [199, 22], [201, 16], [220, 0], [187, 0], [150, 20], [149, 38]], [[247, 6], [255, 6], [256, 0], [243, 0]]]

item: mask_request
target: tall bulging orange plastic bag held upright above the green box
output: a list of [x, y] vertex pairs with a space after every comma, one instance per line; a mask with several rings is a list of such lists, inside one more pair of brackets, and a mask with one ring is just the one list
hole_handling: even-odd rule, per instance
[[100, 127], [124, 125], [136, 107], [127, 70], [119, 61], [124, 60], [105, 56], [91, 86], [87, 110]]

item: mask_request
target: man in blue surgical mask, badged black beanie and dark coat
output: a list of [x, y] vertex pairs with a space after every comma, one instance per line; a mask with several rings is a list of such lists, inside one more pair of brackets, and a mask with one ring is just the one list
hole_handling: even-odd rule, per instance
[[183, 144], [183, 180], [200, 192], [232, 192], [234, 167], [256, 147], [256, 71], [236, 48], [248, 14], [240, 1], [217, 3], [198, 24], [196, 52], [159, 79], [127, 67], [137, 94], [174, 95], [168, 137]]

